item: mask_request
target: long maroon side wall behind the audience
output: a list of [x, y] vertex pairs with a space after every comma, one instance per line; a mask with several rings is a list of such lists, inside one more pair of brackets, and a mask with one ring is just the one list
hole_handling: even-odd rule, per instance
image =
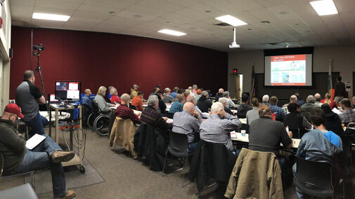
[[[12, 27], [13, 59], [10, 72], [10, 99], [31, 69], [31, 29]], [[55, 81], [82, 82], [82, 92], [90, 88], [115, 86], [119, 95], [138, 84], [145, 97], [155, 85], [200, 88], [217, 92], [227, 88], [228, 54], [217, 50], [138, 36], [79, 32], [60, 29], [33, 29], [33, 44], [43, 43], [40, 66], [46, 94], [54, 92]], [[35, 57], [34, 57], [35, 58]], [[33, 60], [33, 69], [37, 62]], [[40, 87], [39, 74], [36, 84]]]

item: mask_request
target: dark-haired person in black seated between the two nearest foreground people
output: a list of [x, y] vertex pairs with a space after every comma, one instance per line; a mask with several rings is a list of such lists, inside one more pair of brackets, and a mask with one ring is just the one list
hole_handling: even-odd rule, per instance
[[[299, 105], [297, 103], [288, 104], [288, 111], [290, 112], [283, 119], [283, 125], [285, 127], [288, 126], [288, 129], [299, 129], [300, 132], [304, 132], [304, 130], [309, 130], [312, 128], [311, 123], [309, 123], [304, 116], [301, 116]], [[297, 132], [293, 132], [296, 134]], [[301, 133], [300, 136], [302, 136]]]

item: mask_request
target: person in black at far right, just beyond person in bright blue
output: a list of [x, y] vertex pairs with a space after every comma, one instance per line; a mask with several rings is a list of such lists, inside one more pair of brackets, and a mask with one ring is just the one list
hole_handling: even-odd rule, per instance
[[325, 128], [335, 132], [339, 136], [343, 135], [344, 130], [342, 129], [342, 119], [340, 119], [340, 116], [332, 111], [329, 104], [322, 104], [321, 109], [325, 113]]

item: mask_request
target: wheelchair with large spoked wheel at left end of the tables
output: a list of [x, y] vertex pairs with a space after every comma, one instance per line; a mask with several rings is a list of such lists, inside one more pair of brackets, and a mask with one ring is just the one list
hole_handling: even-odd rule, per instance
[[100, 136], [108, 135], [108, 127], [110, 125], [110, 115], [103, 114], [99, 111], [95, 100], [91, 101], [92, 113], [87, 118], [87, 125]]

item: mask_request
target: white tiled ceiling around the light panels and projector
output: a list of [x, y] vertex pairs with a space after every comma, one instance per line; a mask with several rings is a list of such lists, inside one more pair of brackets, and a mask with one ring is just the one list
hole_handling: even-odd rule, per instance
[[[355, 43], [355, 0], [334, 0], [339, 14], [326, 16], [318, 16], [310, 0], [8, 1], [12, 25], [129, 34], [222, 51], [232, 51], [233, 27], [217, 27], [214, 18], [226, 14], [248, 24], [236, 28], [242, 50], [285, 48], [286, 42], [290, 47]], [[34, 20], [34, 12], [71, 17], [67, 22]], [[169, 36], [160, 29], [186, 35]]]

